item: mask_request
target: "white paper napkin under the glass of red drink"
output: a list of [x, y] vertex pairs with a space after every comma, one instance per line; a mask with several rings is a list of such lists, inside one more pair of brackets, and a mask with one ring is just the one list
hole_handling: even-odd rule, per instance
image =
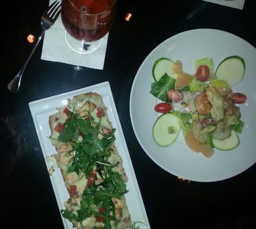
[[[55, 0], [50, 0], [49, 4]], [[61, 17], [57, 18], [53, 27], [45, 31], [41, 60], [63, 62], [76, 66], [103, 69], [108, 34], [102, 38], [98, 49], [92, 53], [80, 54], [69, 48], [65, 40], [65, 29]]]

